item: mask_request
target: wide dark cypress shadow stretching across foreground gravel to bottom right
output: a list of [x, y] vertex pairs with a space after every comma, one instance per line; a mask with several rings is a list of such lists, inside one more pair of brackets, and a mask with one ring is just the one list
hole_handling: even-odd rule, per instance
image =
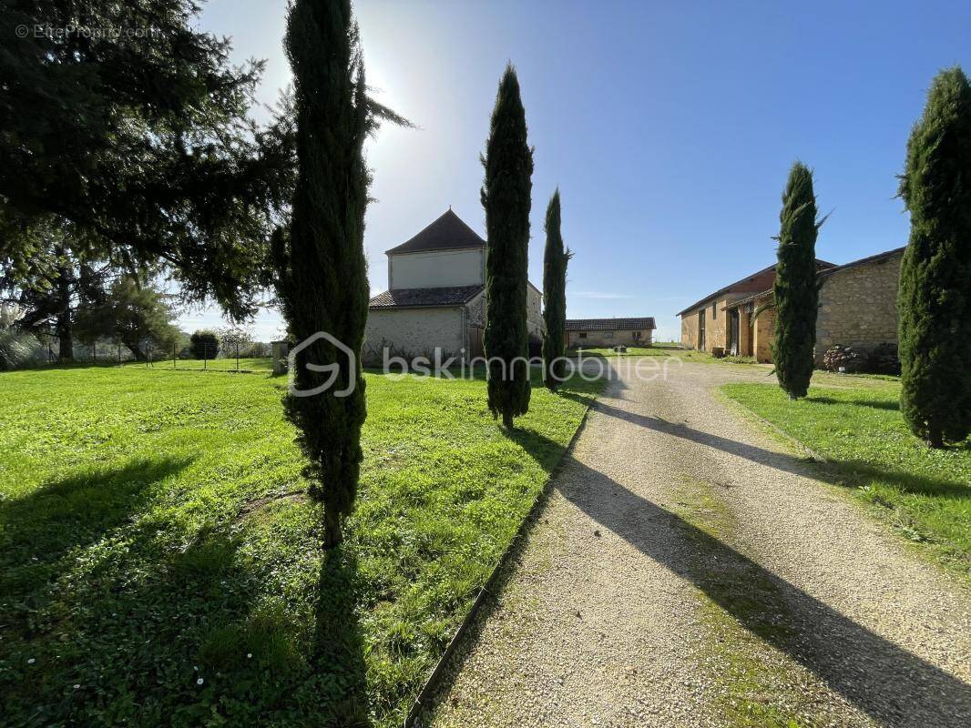
[[[878, 721], [893, 726], [968, 725], [971, 686], [836, 612], [684, 518], [572, 457], [556, 485], [584, 513], [701, 589], [742, 627]], [[684, 541], [655, 538], [661, 531], [676, 531]]]

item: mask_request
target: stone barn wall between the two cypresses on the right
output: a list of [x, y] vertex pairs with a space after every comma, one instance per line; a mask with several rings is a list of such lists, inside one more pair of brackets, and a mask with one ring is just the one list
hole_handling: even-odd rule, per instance
[[903, 252], [825, 276], [816, 319], [816, 363], [833, 346], [897, 343], [897, 282]]

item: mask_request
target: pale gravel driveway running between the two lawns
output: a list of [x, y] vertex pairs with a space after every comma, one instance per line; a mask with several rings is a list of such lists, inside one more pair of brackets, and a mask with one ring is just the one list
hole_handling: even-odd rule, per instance
[[432, 724], [971, 725], [971, 596], [715, 392], [766, 371], [633, 363]]

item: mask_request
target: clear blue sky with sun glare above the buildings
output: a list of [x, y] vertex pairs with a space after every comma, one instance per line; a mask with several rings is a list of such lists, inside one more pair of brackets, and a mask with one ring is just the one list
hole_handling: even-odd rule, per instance
[[[452, 205], [480, 233], [488, 117], [519, 71], [533, 175], [530, 279], [558, 184], [570, 317], [675, 314], [769, 265], [792, 160], [816, 171], [821, 258], [903, 245], [894, 198], [911, 125], [941, 68], [971, 70], [971, 3], [401, 2], [358, 0], [369, 82], [419, 125], [369, 147], [372, 291], [384, 250]], [[268, 61], [261, 99], [288, 83], [281, 0], [210, 0], [203, 28]], [[187, 314], [192, 328], [217, 320]], [[279, 317], [261, 314], [269, 338]]]

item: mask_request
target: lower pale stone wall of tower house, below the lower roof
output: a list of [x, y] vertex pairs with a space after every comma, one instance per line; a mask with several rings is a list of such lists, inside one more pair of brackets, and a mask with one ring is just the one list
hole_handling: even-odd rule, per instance
[[395, 309], [368, 312], [364, 331], [366, 363], [381, 363], [384, 347], [391, 354], [414, 358], [434, 356], [435, 347], [443, 354], [457, 354], [464, 343], [461, 308]]

